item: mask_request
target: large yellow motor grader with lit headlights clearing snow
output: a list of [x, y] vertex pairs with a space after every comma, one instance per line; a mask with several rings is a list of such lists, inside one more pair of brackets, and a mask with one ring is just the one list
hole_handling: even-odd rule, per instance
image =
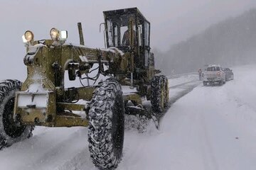
[[[88, 127], [89, 151], [99, 169], [114, 169], [122, 158], [124, 113], [151, 117], [169, 100], [168, 80], [158, 76], [150, 52], [150, 23], [137, 8], [104, 11], [105, 48], [68, 43], [68, 32], [52, 28], [49, 40], [23, 35], [27, 78], [0, 83], [0, 147], [31, 137], [35, 126]], [[126, 38], [126, 39], [124, 39]], [[91, 72], [97, 74], [91, 76]], [[95, 81], [65, 88], [69, 81]], [[99, 81], [99, 77], [107, 77]], [[134, 89], [123, 94], [122, 86]], [[151, 111], [142, 105], [151, 101]], [[81, 103], [79, 101], [87, 101]]]

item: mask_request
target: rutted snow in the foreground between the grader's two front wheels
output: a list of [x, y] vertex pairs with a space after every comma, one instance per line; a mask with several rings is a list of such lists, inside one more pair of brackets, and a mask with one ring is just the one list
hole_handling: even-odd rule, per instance
[[87, 167], [94, 167], [87, 149], [86, 128], [38, 128], [35, 134], [1, 151], [0, 169], [58, 169], [81, 152]]

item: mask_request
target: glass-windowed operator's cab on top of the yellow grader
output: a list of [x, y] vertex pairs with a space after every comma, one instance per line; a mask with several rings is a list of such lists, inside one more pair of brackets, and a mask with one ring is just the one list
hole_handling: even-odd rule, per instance
[[[146, 72], [146, 68], [154, 66], [150, 57], [150, 23], [137, 8], [119, 9], [103, 12], [105, 16], [105, 30], [107, 47], [117, 47], [123, 52], [134, 52], [135, 69], [139, 73]], [[137, 71], [137, 72], [138, 72]]]

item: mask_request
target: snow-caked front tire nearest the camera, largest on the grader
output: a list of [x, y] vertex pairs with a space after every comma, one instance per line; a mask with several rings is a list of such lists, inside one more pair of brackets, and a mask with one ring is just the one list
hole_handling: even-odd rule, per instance
[[90, 157], [99, 169], [114, 169], [122, 158], [124, 143], [124, 99], [115, 79], [95, 89], [89, 111]]

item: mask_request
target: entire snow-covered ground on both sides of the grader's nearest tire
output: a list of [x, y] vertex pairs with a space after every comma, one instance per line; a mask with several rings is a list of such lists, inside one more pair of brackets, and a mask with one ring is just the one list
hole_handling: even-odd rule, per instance
[[[256, 66], [233, 72], [233, 81], [199, 84], [172, 103], [160, 130], [154, 125], [142, 134], [127, 130], [117, 169], [254, 170]], [[170, 85], [176, 86], [170, 89], [171, 100], [197, 84]], [[33, 134], [0, 152], [0, 169], [96, 169], [87, 148], [87, 128], [36, 128]]]

